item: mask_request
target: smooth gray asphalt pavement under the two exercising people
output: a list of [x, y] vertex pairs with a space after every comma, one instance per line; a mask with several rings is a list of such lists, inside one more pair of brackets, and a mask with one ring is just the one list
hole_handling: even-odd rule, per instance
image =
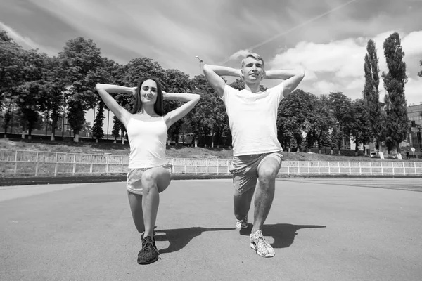
[[420, 281], [421, 182], [278, 179], [262, 229], [276, 256], [264, 259], [235, 228], [230, 179], [172, 181], [148, 266], [124, 181], [4, 186], [0, 280]]

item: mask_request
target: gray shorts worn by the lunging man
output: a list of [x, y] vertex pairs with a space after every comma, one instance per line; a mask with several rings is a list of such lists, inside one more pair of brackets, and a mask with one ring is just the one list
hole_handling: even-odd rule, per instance
[[251, 188], [255, 188], [260, 164], [268, 157], [276, 159], [280, 169], [283, 157], [281, 151], [233, 157], [229, 171], [233, 174], [234, 195], [242, 195]]

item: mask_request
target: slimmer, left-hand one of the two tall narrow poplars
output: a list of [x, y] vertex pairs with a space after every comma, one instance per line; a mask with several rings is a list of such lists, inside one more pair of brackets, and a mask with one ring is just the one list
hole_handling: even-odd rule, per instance
[[[369, 123], [371, 124], [371, 133], [379, 152], [379, 143], [383, 128], [381, 127], [381, 105], [379, 103], [378, 86], [380, 78], [378, 75], [378, 56], [376, 54], [375, 42], [371, 39], [366, 46], [366, 55], [364, 63], [365, 84], [364, 100], [368, 112]], [[359, 104], [360, 105], [360, 104]]]

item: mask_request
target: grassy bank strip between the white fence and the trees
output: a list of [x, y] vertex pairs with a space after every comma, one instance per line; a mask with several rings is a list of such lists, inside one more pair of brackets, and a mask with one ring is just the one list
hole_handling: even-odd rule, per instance
[[[110, 153], [111, 155], [129, 155], [129, 143], [73, 143], [71, 141], [49, 141], [34, 139], [32, 141], [22, 140], [20, 138], [2, 138], [0, 139], [0, 149], [4, 150], [34, 150], [49, 152], [68, 152], [102, 155]], [[231, 159], [233, 150], [229, 148], [190, 148], [183, 145], [167, 146], [167, 157], [169, 158], [217, 158]], [[378, 159], [367, 156], [343, 156], [343, 155], [324, 155], [305, 152], [283, 152], [286, 161], [400, 161], [397, 159]], [[411, 158], [407, 161], [422, 161], [422, 159]]]

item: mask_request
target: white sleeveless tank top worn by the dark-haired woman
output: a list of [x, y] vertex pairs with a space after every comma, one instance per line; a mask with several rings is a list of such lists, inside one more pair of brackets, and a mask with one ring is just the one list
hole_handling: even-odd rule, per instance
[[154, 121], [142, 121], [132, 115], [126, 131], [130, 145], [129, 169], [167, 164], [165, 157], [167, 125], [164, 117]]

